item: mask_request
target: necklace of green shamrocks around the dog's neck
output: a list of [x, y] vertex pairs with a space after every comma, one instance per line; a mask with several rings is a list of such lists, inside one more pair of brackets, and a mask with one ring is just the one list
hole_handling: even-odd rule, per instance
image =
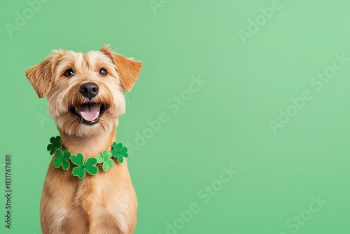
[[55, 154], [56, 156], [52, 160], [55, 168], [62, 166], [63, 170], [68, 170], [72, 165], [73, 170], [71, 173], [79, 179], [83, 179], [86, 172], [92, 175], [97, 174], [99, 167], [102, 167], [102, 170], [106, 172], [109, 168], [113, 167], [114, 160], [123, 163], [123, 157], [127, 158], [128, 156], [127, 148], [123, 144], [113, 142], [111, 152], [104, 150], [101, 155], [87, 158], [84, 163], [83, 154], [77, 153], [76, 155], [72, 155], [68, 149], [62, 149], [61, 137], [59, 136], [51, 137], [47, 149], [50, 151], [50, 155]]

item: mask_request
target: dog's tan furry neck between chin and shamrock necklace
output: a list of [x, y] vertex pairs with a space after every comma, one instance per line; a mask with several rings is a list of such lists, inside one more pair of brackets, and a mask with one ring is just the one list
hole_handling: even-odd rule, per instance
[[116, 140], [116, 129], [90, 137], [66, 135], [62, 130], [59, 130], [59, 134], [65, 149], [68, 149], [72, 154], [83, 153], [85, 159], [97, 156], [105, 149], [110, 151], [112, 143]]

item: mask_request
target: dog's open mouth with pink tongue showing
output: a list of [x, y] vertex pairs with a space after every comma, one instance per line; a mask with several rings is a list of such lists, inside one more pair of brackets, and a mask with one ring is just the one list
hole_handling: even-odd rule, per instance
[[80, 123], [86, 125], [99, 123], [99, 118], [104, 114], [104, 111], [106, 111], [105, 104], [94, 102], [86, 102], [69, 108], [71, 115], [78, 118]]

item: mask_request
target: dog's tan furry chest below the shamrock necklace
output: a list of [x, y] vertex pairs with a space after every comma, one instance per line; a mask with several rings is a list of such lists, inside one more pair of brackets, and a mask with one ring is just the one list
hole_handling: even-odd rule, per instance
[[128, 233], [136, 223], [137, 198], [127, 165], [115, 165], [84, 179], [51, 165], [41, 199], [41, 219], [52, 230], [61, 227], [62, 233]]

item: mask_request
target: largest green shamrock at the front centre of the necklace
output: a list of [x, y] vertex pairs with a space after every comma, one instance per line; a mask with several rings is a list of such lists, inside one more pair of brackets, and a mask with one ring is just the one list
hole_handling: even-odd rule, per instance
[[76, 156], [71, 156], [71, 162], [78, 166], [73, 168], [72, 174], [79, 177], [79, 179], [83, 179], [85, 177], [85, 171], [92, 175], [99, 172], [99, 168], [96, 167], [96, 158], [87, 158], [86, 162], [84, 163], [83, 154], [78, 153]]

